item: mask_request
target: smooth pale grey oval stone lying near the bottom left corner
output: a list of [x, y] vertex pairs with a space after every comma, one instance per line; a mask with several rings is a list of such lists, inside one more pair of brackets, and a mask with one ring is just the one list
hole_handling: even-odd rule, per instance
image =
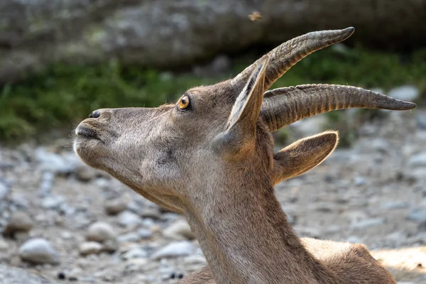
[[23, 261], [31, 263], [58, 263], [58, 253], [49, 241], [41, 238], [29, 239], [19, 248]]

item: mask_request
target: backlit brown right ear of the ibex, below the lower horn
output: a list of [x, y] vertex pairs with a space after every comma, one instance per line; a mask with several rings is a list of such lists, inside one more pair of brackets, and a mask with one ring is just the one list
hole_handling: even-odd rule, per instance
[[294, 178], [320, 165], [334, 151], [337, 131], [327, 131], [300, 139], [273, 155], [273, 183]]

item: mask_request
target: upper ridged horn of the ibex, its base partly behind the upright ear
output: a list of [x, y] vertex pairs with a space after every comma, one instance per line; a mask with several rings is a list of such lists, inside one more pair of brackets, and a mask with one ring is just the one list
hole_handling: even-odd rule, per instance
[[[305, 58], [307, 55], [326, 48], [334, 43], [339, 43], [346, 38], [349, 38], [354, 33], [355, 28], [349, 27], [343, 30], [330, 30], [330, 31], [314, 31], [300, 35], [297, 38], [286, 41], [279, 45], [277, 48], [271, 50], [268, 55], [269, 65], [266, 69], [265, 75], [265, 88], [269, 89], [272, 84], [278, 80], [287, 70], [289, 70], [297, 62]], [[260, 59], [259, 59], [260, 60]], [[231, 82], [240, 91], [254, 68], [257, 66], [258, 60], [237, 75]]]

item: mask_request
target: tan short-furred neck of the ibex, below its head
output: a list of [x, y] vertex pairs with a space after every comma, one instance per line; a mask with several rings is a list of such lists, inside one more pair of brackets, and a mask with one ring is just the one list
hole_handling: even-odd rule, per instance
[[272, 187], [214, 190], [224, 198], [187, 219], [217, 283], [333, 283], [288, 224]]

